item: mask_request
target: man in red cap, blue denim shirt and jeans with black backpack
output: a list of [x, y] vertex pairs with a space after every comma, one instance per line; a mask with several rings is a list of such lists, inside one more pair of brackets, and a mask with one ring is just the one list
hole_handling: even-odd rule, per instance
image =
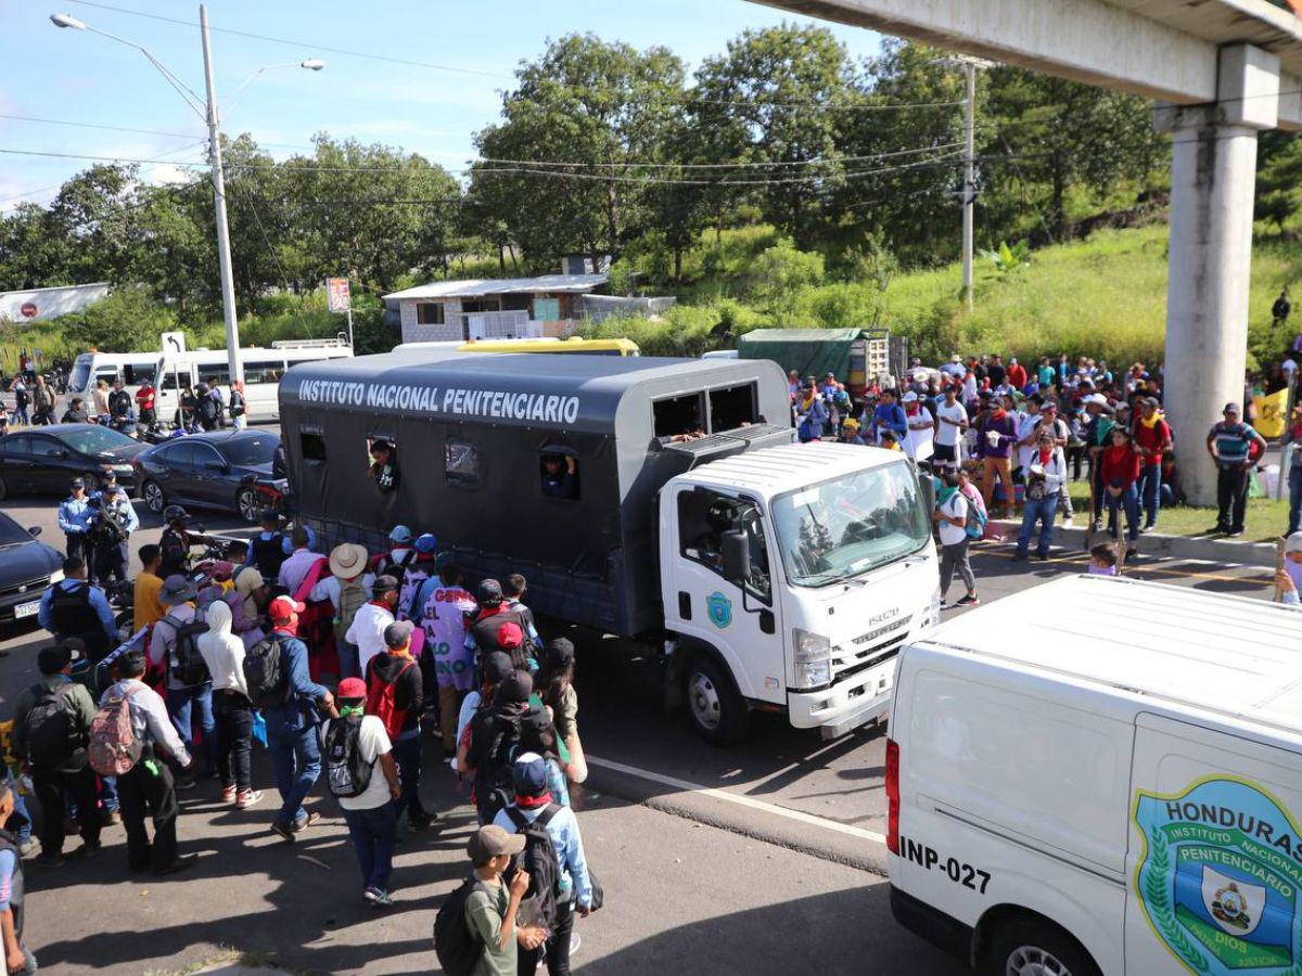
[[267, 608], [272, 627], [268, 639], [280, 648], [280, 674], [285, 682], [284, 704], [263, 709], [267, 746], [276, 764], [276, 790], [284, 802], [271, 830], [290, 843], [296, 834], [320, 820], [320, 813], [303, 809], [303, 799], [322, 772], [318, 709], [329, 711], [335, 704], [329, 688], [314, 682], [307, 671], [307, 647], [298, 639], [298, 614], [303, 609], [303, 604], [288, 596], [277, 596]]

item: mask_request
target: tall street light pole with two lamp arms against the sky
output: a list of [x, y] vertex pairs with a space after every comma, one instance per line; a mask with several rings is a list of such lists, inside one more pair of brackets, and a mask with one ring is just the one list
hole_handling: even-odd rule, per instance
[[[177, 94], [185, 99], [186, 104], [190, 105], [207, 124], [208, 126], [208, 159], [211, 165], [212, 176], [212, 195], [215, 198], [216, 207], [216, 224], [217, 224], [217, 263], [221, 268], [221, 312], [225, 319], [227, 327], [227, 363], [230, 372], [230, 381], [237, 383], [243, 379], [243, 368], [240, 362], [240, 323], [236, 318], [236, 288], [234, 276], [230, 269], [230, 229], [227, 224], [227, 183], [225, 176], [221, 169], [221, 129], [217, 117], [217, 92], [212, 83], [212, 44], [208, 39], [208, 10], [203, 4], [199, 4], [199, 39], [203, 46], [203, 79], [206, 85], [207, 99], [201, 99], [194, 94], [190, 87], [182, 82], [167, 65], [159, 61], [147, 48], [137, 44], [134, 40], [128, 40], [126, 38], [120, 38], [116, 34], [109, 34], [104, 30], [98, 30], [91, 27], [89, 23], [77, 20], [68, 13], [55, 13], [49, 16], [49, 22], [56, 27], [72, 29], [72, 30], [85, 30], [91, 34], [99, 34], [111, 40], [116, 40], [120, 44], [126, 44], [128, 47], [134, 47], [145, 57], [148, 59], [168, 83], [176, 88]], [[256, 78], [263, 72], [270, 68], [281, 66], [294, 66], [294, 62], [288, 65], [268, 65], [267, 68], [260, 68], [254, 72], [253, 77], [245, 82], [247, 85], [254, 78]], [[326, 66], [326, 62], [316, 57], [309, 57], [297, 62], [298, 68], [305, 68], [310, 72], [319, 72]], [[243, 85], [240, 86], [243, 88]]]

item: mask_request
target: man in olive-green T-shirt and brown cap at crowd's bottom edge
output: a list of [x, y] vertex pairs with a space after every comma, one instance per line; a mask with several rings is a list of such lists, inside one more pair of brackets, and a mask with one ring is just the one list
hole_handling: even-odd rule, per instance
[[484, 943], [473, 976], [516, 976], [517, 945], [536, 949], [547, 938], [543, 928], [516, 925], [516, 912], [529, 889], [525, 869], [517, 868], [509, 885], [501, 878], [512, 856], [523, 850], [523, 834], [508, 834], [492, 824], [479, 828], [466, 845], [478, 881], [466, 899], [466, 925]]

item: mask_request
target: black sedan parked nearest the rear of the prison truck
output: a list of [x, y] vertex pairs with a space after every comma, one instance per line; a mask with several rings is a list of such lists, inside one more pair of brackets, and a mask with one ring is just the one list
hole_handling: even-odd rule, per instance
[[238, 511], [249, 522], [273, 489], [272, 461], [280, 435], [217, 431], [176, 437], [146, 448], [132, 462], [145, 506], [161, 514], [168, 505]]

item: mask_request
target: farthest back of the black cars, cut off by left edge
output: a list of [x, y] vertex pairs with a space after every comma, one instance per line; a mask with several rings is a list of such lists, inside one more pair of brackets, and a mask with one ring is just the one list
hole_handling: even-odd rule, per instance
[[78, 475], [94, 491], [107, 474], [126, 491], [135, 485], [132, 458], [145, 450], [125, 433], [99, 424], [27, 427], [0, 437], [0, 500], [10, 495], [66, 495]]

